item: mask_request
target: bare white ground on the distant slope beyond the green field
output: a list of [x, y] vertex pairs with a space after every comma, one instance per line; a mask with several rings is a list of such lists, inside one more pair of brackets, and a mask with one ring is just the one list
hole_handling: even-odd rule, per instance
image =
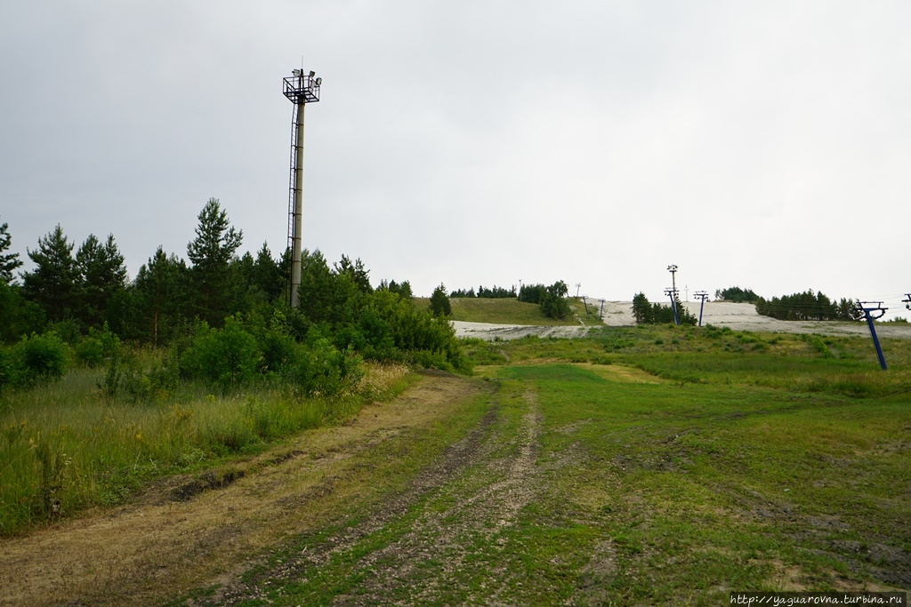
[[[699, 302], [688, 301], [683, 305], [699, 318]], [[604, 325], [608, 327], [631, 327], [636, 324], [632, 316], [631, 301], [605, 301]], [[734, 330], [765, 331], [770, 333], [819, 333], [822, 335], [863, 335], [869, 336], [870, 329], [865, 322], [794, 321], [777, 320], [756, 313], [756, 307], [748, 303], [728, 301], [707, 301], [702, 310], [702, 324], [716, 327], [730, 327]], [[454, 320], [455, 335], [460, 338], [518, 339], [528, 335], [538, 337], [574, 338], [585, 335], [589, 327], [538, 327], [529, 325], [498, 325], [486, 322], [464, 322]], [[596, 325], [597, 326], [597, 325]], [[876, 334], [881, 338], [911, 339], [911, 325], [877, 324]]]

